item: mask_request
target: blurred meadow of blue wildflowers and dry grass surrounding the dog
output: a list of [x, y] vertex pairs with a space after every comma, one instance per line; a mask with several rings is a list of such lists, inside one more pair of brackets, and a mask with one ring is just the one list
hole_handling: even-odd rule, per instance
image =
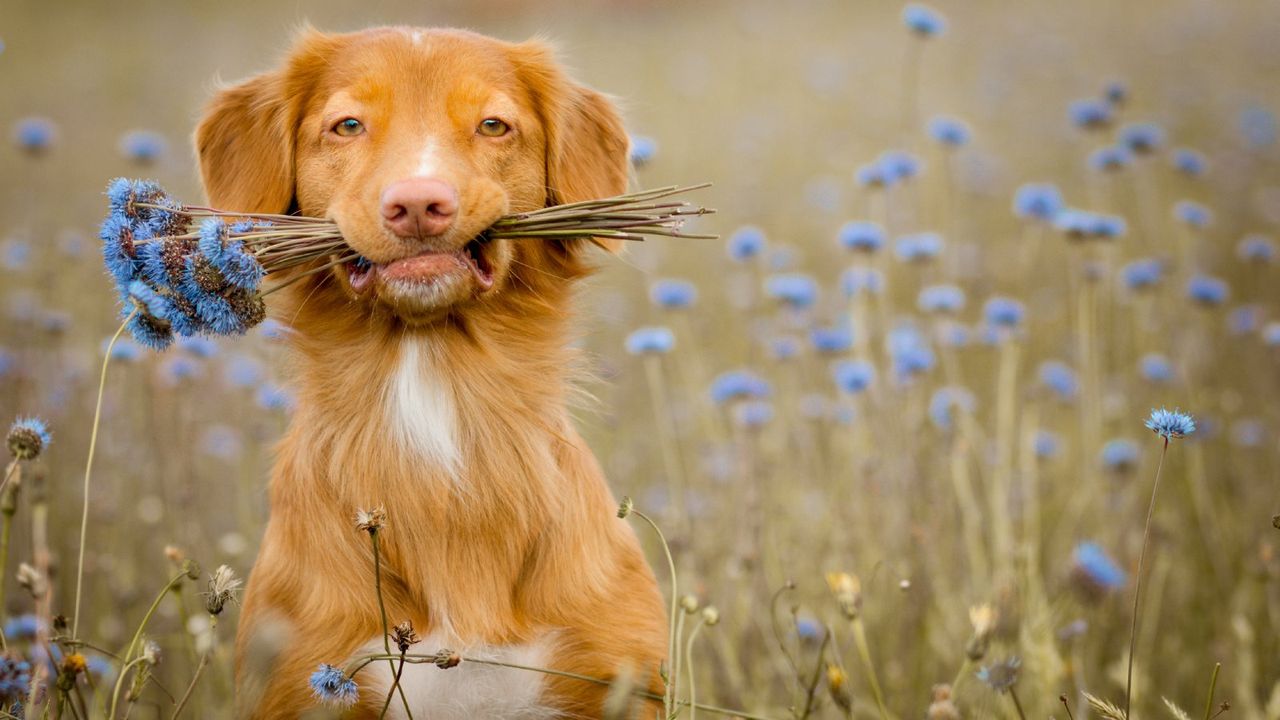
[[669, 541], [680, 698], [1280, 717], [1280, 5], [131, 5], [0, 13], [0, 717], [233, 714], [288, 328], [123, 337], [95, 436], [97, 224], [113, 177], [198, 199], [214, 79], [303, 19], [545, 33], [635, 187], [714, 183], [721, 240], [581, 297], [579, 425]]

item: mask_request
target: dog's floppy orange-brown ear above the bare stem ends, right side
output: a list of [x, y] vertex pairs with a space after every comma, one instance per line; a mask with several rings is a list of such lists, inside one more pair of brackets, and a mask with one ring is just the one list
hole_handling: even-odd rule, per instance
[[[547, 141], [547, 204], [561, 205], [621, 195], [627, 190], [627, 133], [604, 95], [571, 81], [552, 49], [530, 41], [512, 49]], [[618, 241], [600, 241], [617, 251]]]

